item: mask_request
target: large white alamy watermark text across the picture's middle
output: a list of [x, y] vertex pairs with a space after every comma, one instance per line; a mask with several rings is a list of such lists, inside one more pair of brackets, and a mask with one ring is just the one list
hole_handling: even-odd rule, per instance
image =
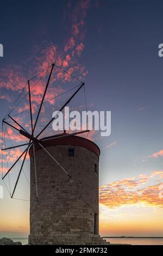
[[110, 136], [111, 133], [111, 111], [71, 111], [65, 107], [64, 114], [54, 111], [52, 127], [54, 131], [72, 130], [95, 130], [101, 131], [101, 136]]

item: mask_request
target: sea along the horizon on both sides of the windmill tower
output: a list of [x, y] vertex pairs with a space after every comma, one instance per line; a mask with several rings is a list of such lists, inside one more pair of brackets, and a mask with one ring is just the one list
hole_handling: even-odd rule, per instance
[[[22, 245], [28, 244], [28, 238], [11, 238], [14, 242], [21, 242]], [[163, 245], [163, 238], [136, 238], [136, 237], [109, 237], [106, 239], [110, 243], [127, 243], [129, 245]]]

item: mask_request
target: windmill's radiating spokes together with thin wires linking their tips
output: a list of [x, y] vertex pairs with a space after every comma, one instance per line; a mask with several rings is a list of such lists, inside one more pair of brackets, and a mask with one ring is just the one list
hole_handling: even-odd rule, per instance
[[[24, 125], [24, 124], [21, 124], [21, 123], [18, 123], [18, 121], [16, 121], [13, 117], [11, 117], [10, 116], [10, 113], [11, 113], [11, 111], [13, 111], [16, 107], [17, 107], [17, 105], [24, 99], [24, 96], [22, 97], [22, 99], [17, 103], [17, 101], [19, 100], [19, 99], [17, 99], [16, 100], [16, 102], [14, 103], [14, 105], [12, 106], [12, 109], [11, 109], [11, 111], [9, 111], [8, 112], [8, 117], [7, 117], [7, 115], [6, 115], [6, 117], [7, 118], [5, 118], [5, 119], [3, 119], [3, 121], [2, 121], [2, 124], [4, 125], [4, 124], [6, 124], [6, 125], [9, 125], [13, 130], [12, 130], [12, 132], [15, 132], [15, 133], [17, 133], [16, 132], [16, 130], [20, 133], [20, 136], [21, 135], [23, 135], [24, 137], [26, 137], [26, 138], [28, 138], [29, 139], [29, 142], [28, 143], [24, 143], [24, 144], [19, 144], [19, 145], [13, 145], [12, 144], [12, 141], [11, 141], [11, 139], [10, 139], [10, 141], [11, 141], [11, 146], [12, 147], [9, 147], [9, 145], [3, 145], [2, 144], [2, 150], [8, 150], [8, 149], [14, 149], [15, 150], [15, 148], [18, 148], [18, 147], [23, 147], [23, 146], [25, 146], [25, 145], [27, 145], [27, 148], [21, 153], [21, 155], [19, 156], [19, 157], [17, 157], [17, 159], [16, 159], [16, 161], [13, 163], [13, 162], [11, 162], [11, 164], [12, 164], [12, 166], [11, 167], [8, 167], [7, 169], [7, 172], [5, 173], [5, 175], [3, 176], [3, 174], [2, 174], [2, 179], [3, 179], [3, 181], [4, 181], [4, 178], [8, 175], [9, 176], [9, 173], [10, 173], [10, 171], [12, 170], [12, 168], [14, 168], [15, 167], [15, 165], [16, 165], [16, 163], [18, 162], [18, 161], [20, 161], [20, 160], [22, 160], [21, 161], [21, 163], [20, 163], [20, 169], [18, 170], [18, 176], [17, 176], [17, 179], [16, 179], [16, 182], [15, 182], [15, 185], [14, 185], [14, 190], [11, 192], [10, 191], [10, 196], [11, 196], [11, 198], [14, 198], [14, 193], [15, 193], [15, 191], [16, 191], [16, 189], [17, 189], [17, 185], [18, 185], [18, 182], [19, 182], [19, 180], [20, 180], [20, 176], [21, 176], [21, 173], [22, 173], [22, 171], [23, 171], [23, 166], [24, 166], [24, 162], [26, 161], [26, 158], [27, 158], [27, 154], [28, 154], [28, 151], [29, 151], [29, 147], [32, 145], [32, 147], [33, 147], [33, 157], [34, 157], [34, 175], [35, 175], [35, 191], [36, 191], [36, 199], [37, 199], [37, 202], [38, 202], [38, 183], [37, 183], [37, 168], [36, 168], [36, 151], [35, 151], [35, 143], [37, 143], [47, 154], [48, 154], [48, 156], [49, 157], [51, 157], [51, 159], [55, 162], [55, 164], [54, 164], [54, 166], [56, 166], [56, 164], [57, 164], [57, 166], [59, 166], [60, 168], [61, 168], [61, 170], [68, 176], [68, 178], [71, 178], [71, 175], [70, 174], [68, 174], [68, 172], [66, 171], [66, 169], [63, 167], [63, 166], [61, 166], [61, 164], [55, 159], [55, 157], [42, 145], [43, 144], [43, 142], [44, 141], [47, 141], [48, 139], [53, 139], [53, 138], [62, 138], [62, 137], [69, 137], [69, 136], [75, 136], [75, 135], [79, 135], [80, 133], [84, 133], [84, 132], [89, 132], [89, 130], [85, 130], [85, 131], [77, 131], [77, 132], [73, 132], [73, 133], [61, 133], [61, 134], [59, 134], [59, 135], [55, 135], [55, 136], [48, 136], [48, 137], [46, 137], [46, 138], [42, 138], [42, 139], [39, 139], [38, 137], [43, 133], [43, 131], [45, 131], [46, 130], [46, 128], [52, 123], [52, 121], [54, 120], [54, 119], [56, 119], [57, 118], [57, 114], [55, 115], [55, 117], [53, 117], [49, 122], [48, 122], [48, 124], [45, 126], [45, 127], [43, 127], [42, 128], [42, 130], [39, 132], [39, 134], [37, 135], [37, 136], [35, 136], [34, 134], [35, 134], [35, 129], [36, 129], [36, 126], [37, 126], [37, 123], [39, 123], [39, 117], [40, 117], [40, 115], [41, 115], [41, 109], [42, 109], [42, 105], [43, 105], [43, 103], [45, 103], [45, 102], [48, 102], [49, 100], [47, 100], [47, 101], [45, 101], [46, 100], [46, 94], [47, 94], [47, 90], [48, 90], [48, 87], [49, 87], [49, 83], [50, 83], [50, 81], [51, 81], [51, 78], [52, 78], [52, 73], [53, 73], [53, 69], [54, 69], [54, 66], [55, 67], [57, 67], [57, 68], [59, 68], [57, 65], [55, 65], [54, 63], [47, 69], [47, 70], [49, 70], [48, 71], [48, 73], [49, 73], [49, 75], [48, 75], [48, 79], [47, 79], [47, 81], [46, 81], [46, 86], [45, 86], [45, 90], [44, 90], [44, 92], [43, 92], [43, 95], [42, 95], [42, 99], [41, 99], [41, 103], [40, 103], [40, 105], [37, 105], [37, 106], [39, 106], [38, 107], [38, 112], [37, 112], [37, 114], [36, 114], [36, 119], [35, 119], [35, 121], [33, 120], [33, 112], [32, 112], [32, 94], [31, 94], [31, 91], [32, 91], [32, 89], [33, 89], [33, 87], [31, 88], [31, 85], [30, 85], [30, 80], [28, 80], [28, 92], [27, 92], [27, 94], [26, 95], [28, 95], [29, 96], [29, 109], [27, 109], [27, 110], [30, 110], [30, 125], [31, 125], [31, 132], [30, 132], [30, 129], [29, 129], [29, 132], [25, 129], [26, 128], [26, 125]], [[60, 68], [59, 68], [60, 69]], [[62, 70], [62, 69], [61, 69]], [[62, 71], [64, 71], [66, 74], [68, 74], [68, 72], [66, 71], [66, 70], [62, 70]], [[70, 75], [72, 78], [75, 78], [77, 81], [79, 81], [76, 77], [74, 77], [73, 75], [71, 75], [71, 74], [68, 74], [68, 75]], [[43, 76], [42, 76], [43, 77]], [[38, 81], [37, 81], [38, 82]], [[36, 83], [37, 83], [36, 82]], [[79, 81], [80, 82], [80, 81]], [[35, 84], [36, 84], [35, 83]], [[35, 85], [34, 85], [35, 86]], [[66, 105], [68, 105], [68, 103], [73, 99], [73, 97], [79, 92], [79, 90], [82, 88], [84, 86], [84, 83], [83, 82], [80, 82], [79, 83], [79, 85], [78, 85], [78, 88], [76, 89], [76, 92], [74, 92], [73, 94], [72, 94], [72, 96], [64, 103], [64, 105], [60, 108], [60, 110], [58, 111], [58, 113], [59, 112], [61, 112], [65, 107], [66, 107]], [[76, 87], [75, 87], [76, 88]], [[73, 88], [74, 89], [74, 88]], [[72, 90], [72, 89], [71, 89]], [[68, 90], [68, 92], [69, 92], [69, 90]], [[65, 93], [65, 92], [64, 92]], [[62, 93], [62, 94], [64, 94], [64, 93]], [[84, 88], [84, 93], [85, 93], [85, 88]], [[61, 94], [61, 95], [62, 95]], [[26, 96], [25, 95], [25, 96]], [[60, 96], [60, 95], [58, 95], [58, 96]], [[52, 100], [52, 99], [51, 99]], [[85, 99], [85, 103], [86, 103], [86, 99]], [[37, 106], [35, 106], [35, 107], [37, 107]], [[10, 119], [9, 119], [10, 118]], [[12, 122], [12, 121], [13, 122]], [[14, 126], [14, 124], [12, 125], [11, 123], [14, 123], [15, 124], [15, 126]], [[26, 123], [26, 122], [22, 122], [22, 123]], [[4, 125], [4, 126], [6, 126], [6, 125]], [[23, 127], [23, 126], [25, 127]], [[3, 133], [3, 131], [2, 131], [2, 133]], [[24, 137], [22, 137], [23, 139], [24, 139], [24, 141], [27, 141], [27, 140], [25, 140], [25, 138]], [[9, 138], [10, 138], [10, 136], [9, 136]], [[4, 148], [3, 148], [4, 147]], [[6, 148], [6, 147], [8, 147], [8, 148]], [[24, 148], [23, 148], [24, 149]], [[5, 151], [5, 153], [7, 154], [7, 151]], [[3, 162], [3, 161], [2, 161]], [[3, 163], [2, 163], [3, 164]], [[8, 164], [8, 163], [7, 163]], [[37, 166], [38, 167], [38, 166]], [[61, 171], [60, 170], [60, 171]], [[24, 171], [23, 171], [24, 172]], [[25, 175], [26, 176], [26, 175]], [[26, 177], [27, 178], [27, 177]], [[9, 184], [10, 184], [10, 180], [9, 180]], [[41, 195], [39, 194], [39, 197], [40, 197]]]

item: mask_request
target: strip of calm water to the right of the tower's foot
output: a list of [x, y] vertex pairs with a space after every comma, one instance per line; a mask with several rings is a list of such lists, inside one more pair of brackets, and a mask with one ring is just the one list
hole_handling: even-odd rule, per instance
[[163, 245], [163, 238], [107, 238], [110, 243], [129, 243], [130, 245]]

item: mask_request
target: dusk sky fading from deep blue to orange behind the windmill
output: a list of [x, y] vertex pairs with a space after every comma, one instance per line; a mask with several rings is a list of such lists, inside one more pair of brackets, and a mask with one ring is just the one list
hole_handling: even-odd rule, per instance
[[[26, 94], [27, 80], [53, 62], [78, 77], [85, 82], [87, 108], [111, 111], [111, 135], [90, 132], [88, 137], [101, 149], [100, 234], [163, 236], [162, 1], [1, 1], [0, 31], [1, 122], [19, 93]], [[33, 86], [41, 78], [32, 90], [33, 106], [41, 101], [49, 69], [43, 75], [30, 81]], [[54, 75], [46, 100], [79, 85], [60, 69]], [[45, 125], [72, 92], [48, 103], [39, 124]], [[84, 100], [82, 89], [70, 107], [84, 110]], [[12, 114], [26, 110], [27, 97]], [[28, 123], [28, 114], [16, 118]], [[12, 143], [22, 143], [21, 136], [8, 132]], [[52, 132], [50, 127], [44, 135]], [[9, 164], [15, 157], [9, 153]], [[5, 180], [7, 188], [0, 181], [0, 236], [29, 234], [29, 160], [23, 171], [17, 199], [10, 199], [7, 188], [14, 185], [18, 168], [11, 184]]]

